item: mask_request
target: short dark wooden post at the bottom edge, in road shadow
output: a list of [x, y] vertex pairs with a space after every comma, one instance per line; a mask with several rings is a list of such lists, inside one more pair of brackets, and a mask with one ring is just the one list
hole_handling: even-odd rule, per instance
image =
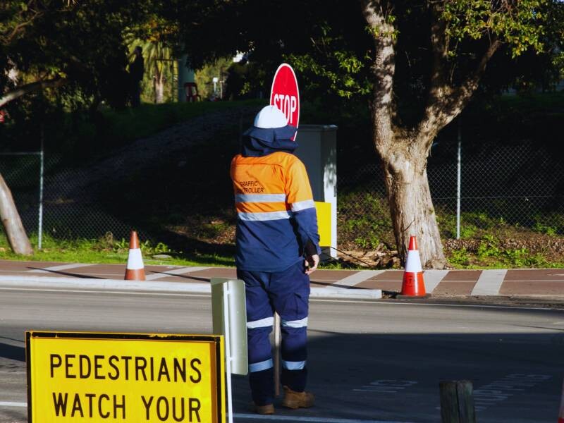
[[476, 423], [471, 381], [441, 381], [443, 423]]

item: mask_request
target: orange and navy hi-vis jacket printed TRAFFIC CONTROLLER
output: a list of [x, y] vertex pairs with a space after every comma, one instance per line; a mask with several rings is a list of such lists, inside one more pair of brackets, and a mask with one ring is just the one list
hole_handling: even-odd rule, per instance
[[238, 269], [276, 272], [320, 254], [317, 214], [305, 166], [293, 154], [238, 154], [231, 161]]

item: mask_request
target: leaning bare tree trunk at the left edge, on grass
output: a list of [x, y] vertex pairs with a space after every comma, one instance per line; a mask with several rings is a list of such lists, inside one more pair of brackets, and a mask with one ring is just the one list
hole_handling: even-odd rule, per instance
[[16, 254], [32, 255], [33, 249], [23, 228], [18, 209], [13, 202], [12, 193], [0, 175], [0, 218], [12, 251]]

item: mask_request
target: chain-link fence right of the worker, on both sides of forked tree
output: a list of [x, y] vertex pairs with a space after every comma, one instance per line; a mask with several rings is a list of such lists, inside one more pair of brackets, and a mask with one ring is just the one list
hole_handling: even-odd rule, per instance
[[[443, 236], [465, 238], [477, 227], [501, 223], [551, 235], [564, 233], [561, 154], [532, 143], [462, 143], [460, 178], [458, 154], [456, 142], [436, 144], [431, 147], [427, 166]], [[388, 234], [387, 241], [393, 243], [378, 157], [374, 152], [350, 152], [344, 156], [344, 163], [338, 164], [340, 242], [348, 240], [360, 247], [375, 248]], [[364, 228], [364, 238], [355, 226]]]

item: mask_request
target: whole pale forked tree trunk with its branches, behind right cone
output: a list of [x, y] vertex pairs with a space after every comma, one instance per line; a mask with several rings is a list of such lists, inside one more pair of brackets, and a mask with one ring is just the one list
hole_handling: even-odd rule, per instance
[[441, 2], [429, 1], [434, 14], [431, 24], [431, 54], [433, 57], [429, 81], [429, 94], [424, 117], [415, 127], [405, 127], [394, 121], [397, 110], [393, 102], [393, 78], [396, 73], [395, 37], [391, 0], [361, 0], [362, 13], [369, 32], [374, 37], [374, 87], [372, 91], [373, 142], [378, 152], [386, 178], [388, 203], [391, 209], [393, 232], [405, 260], [410, 235], [417, 236], [422, 264], [443, 269], [446, 259], [436, 223], [429, 181], [427, 157], [434, 137], [450, 123], [476, 91], [482, 73], [501, 42], [491, 39], [491, 44], [470, 73], [458, 87], [449, 80], [448, 37], [446, 23], [441, 20]]

